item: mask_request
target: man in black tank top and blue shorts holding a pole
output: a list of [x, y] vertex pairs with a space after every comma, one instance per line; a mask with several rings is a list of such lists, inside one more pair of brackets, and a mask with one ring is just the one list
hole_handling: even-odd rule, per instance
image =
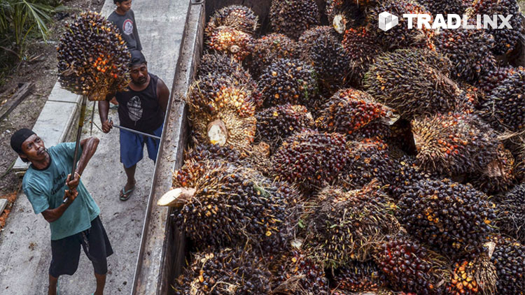
[[[144, 55], [132, 51], [130, 69], [131, 82], [125, 92], [116, 92], [99, 101], [99, 115], [102, 131], [108, 133], [113, 122], [108, 122], [109, 101], [118, 101], [120, 125], [129, 129], [159, 136], [169, 99], [169, 89], [156, 75], [148, 73]], [[135, 168], [143, 157], [144, 144], [148, 147], [148, 157], [155, 161], [160, 141], [148, 136], [120, 129], [120, 162], [124, 166], [127, 182], [120, 191], [120, 200], [127, 201], [135, 188]]]

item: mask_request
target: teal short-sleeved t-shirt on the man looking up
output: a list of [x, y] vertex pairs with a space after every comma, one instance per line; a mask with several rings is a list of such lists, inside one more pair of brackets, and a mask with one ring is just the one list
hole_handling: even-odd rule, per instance
[[[22, 180], [22, 189], [31, 202], [35, 214], [55, 209], [62, 204], [64, 191], [68, 189], [66, 178], [73, 168], [75, 143], [59, 143], [48, 148], [48, 153], [51, 158], [48, 168], [36, 170], [30, 165]], [[66, 238], [89, 229], [92, 220], [99, 215], [99, 206], [94, 203], [82, 180], [78, 184], [77, 191], [78, 196], [75, 201], [58, 220], [50, 223], [51, 240]]]

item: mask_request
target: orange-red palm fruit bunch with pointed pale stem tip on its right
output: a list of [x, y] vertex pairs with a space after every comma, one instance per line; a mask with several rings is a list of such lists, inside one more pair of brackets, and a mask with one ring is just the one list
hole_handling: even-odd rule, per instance
[[391, 125], [398, 118], [393, 109], [377, 103], [370, 94], [348, 88], [339, 90], [324, 104], [316, 126], [319, 130], [351, 135], [370, 124]]

